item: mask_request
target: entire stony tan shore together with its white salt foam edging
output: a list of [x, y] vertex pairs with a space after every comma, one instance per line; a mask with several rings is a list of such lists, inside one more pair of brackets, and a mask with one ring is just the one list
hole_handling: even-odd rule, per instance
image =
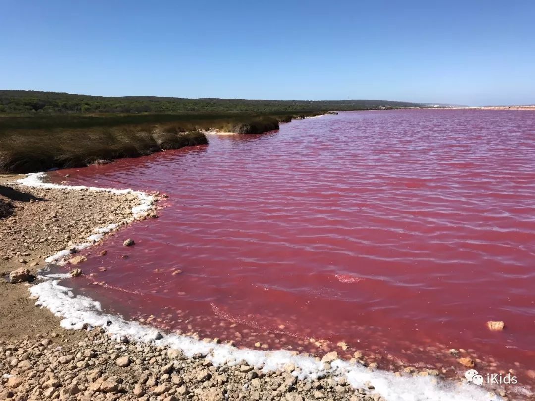
[[[41, 178], [22, 181], [29, 189], [14, 187], [32, 197], [0, 223], [1, 273], [39, 263], [28, 267], [35, 274], [43, 259], [61, 261], [77, 245], [89, 246], [121, 224], [154, 213], [155, 195], [43, 186]], [[95, 233], [95, 227], [105, 229]], [[381, 372], [333, 353], [320, 360], [160, 334], [102, 313], [97, 302], [74, 296], [58, 278], [37, 280], [30, 287], [34, 300], [25, 284], [2, 282], [0, 399], [487, 399], [473, 385]], [[62, 329], [59, 319], [34, 302], [61, 315], [63, 328], [100, 327]]]

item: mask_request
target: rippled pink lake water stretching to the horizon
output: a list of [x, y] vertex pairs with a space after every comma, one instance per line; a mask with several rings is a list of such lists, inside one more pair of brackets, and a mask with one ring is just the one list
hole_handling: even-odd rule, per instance
[[209, 141], [51, 174], [170, 195], [159, 219], [91, 249], [93, 276], [72, 286], [240, 346], [361, 350], [384, 368], [462, 368], [447, 350], [463, 348], [529, 384], [535, 113], [347, 112]]

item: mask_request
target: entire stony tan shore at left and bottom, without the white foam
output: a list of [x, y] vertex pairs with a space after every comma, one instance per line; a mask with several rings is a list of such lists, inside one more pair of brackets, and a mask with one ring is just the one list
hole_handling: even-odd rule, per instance
[[[95, 227], [131, 221], [140, 202], [132, 194], [6, 184], [9, 178], [3, 177], [2, 196], [14, 214], [0, 220], [5, 277], [21, 267], [36, 275], [45, 258], [85, 241]], [[299, 380], [292, 365], [274, 372], [246, 363], [216, 367], [206, 355], [188, 358], [155, 344], [112, 340], [102, 328], [64, 330], [57, 317], [34, 306], [30, 285], [0, 284], [0, 399], [384, 400], [371, 385], [356, 390], [329, 374]]]

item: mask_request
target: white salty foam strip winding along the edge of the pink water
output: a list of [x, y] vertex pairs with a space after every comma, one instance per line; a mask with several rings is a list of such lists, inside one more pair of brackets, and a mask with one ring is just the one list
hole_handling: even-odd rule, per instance
[[[141, 199], [141, 205], [132, 210], [133, 221], [146, 215], [154, 206], [154, 197], [145, 192], [117, 190], [110, 188], [96, 188], [86, 186], [66, 186], [61, 184], [45, 183], [42, 181], [44, 173], [28, 174], [25, 179], [18, 182], [31, 187], [52, 188], [60, 190], [92, 190], [104, 191], [112, 194], [136, 194]], [[113, 227], [112, 227], [113, 226]], [[88, 237], [90, 242], [75, 245], [77, 248], [87, 248], [94, 241], [101, 240], [102, 236], [118, 225], [97, 228], [96, 234]], [[49, 262], [63, 262], [68, 250], [58, 252], [46, 260]], [[37, 298], [36, 305], [49, 309], [56, 316], [63, 318], [61, 326], [65, 329], [82, 329], [86, 325], [100, 326], [115, 340], [121, 336], [128, 336], [131, 340], [154, 343], [159, 346], [169, 346], [181, 349], [186, 356], [192, 357], [197, 353], [207, 356], [213, 365], [236, 365], [246, 361], [249, 365], [262, 368], [264, 372], [284, 370], [287, 364], [295, 365], [294, 372], [300, 379], [315, 379], [326, 374], [334, 377], [346, 377], [354, 388], [373, 385], [376, 391], [388, 401], [483, 401], [499, 400], [499, 396], [488, 393], [482, 388], [469, 383], [452, 383], [441, 381], [433, 376], [396, 376], [392, 372], [372, 371], [360, 364], [350, 364], [344, 360], [335, 360], [327, 371], [325, 365], [309, 356], [296, 355], [291, 351], [277, 350], [251, 350], [239, 349], [230, 344], [205, 343], [192, 337], [167, 334], [158, 338], [158, 330], [154, 327], [143, 326], [139, 322], [127, 321], [119, 315], [104, 313], [99, 302], [83, 295], [76, 295], [71, 288], [60, 284], [62, 279], [70, 277], [68, 274], [47, 274], [40, 271], [39, 283], [29, 287], [32, 298]]]

